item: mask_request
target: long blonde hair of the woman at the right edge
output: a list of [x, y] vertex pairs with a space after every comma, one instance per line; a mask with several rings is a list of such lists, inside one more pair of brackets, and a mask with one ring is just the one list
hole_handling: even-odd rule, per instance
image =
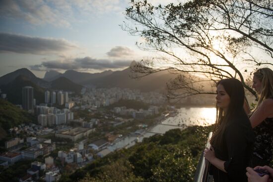
[[273, 97], [273, 71], [270, 68], [258, 69], [254, 76], [262, 83], [262, 90], [259, 95], [258, 104], [252, 111], [255, 112], [264, 99]]

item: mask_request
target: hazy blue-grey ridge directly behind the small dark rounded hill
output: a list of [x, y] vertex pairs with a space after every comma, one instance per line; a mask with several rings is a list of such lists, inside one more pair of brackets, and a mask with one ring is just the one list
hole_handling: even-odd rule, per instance
[[65, 73], [53, 77], [52, 79], [50, 79], [50, 81], [56, 80], [57, 78], [60, 78], [60, 77], [65, 77], [76, 84], [86, 85], [86, 84], [90, 84], [92, 80], [111, 75], [112, 73], [113, 72], [111, 70], [104, 71], [101, 73], [93, 73], [93, 74], [77, 72], [74, 70], [67, 70]]

